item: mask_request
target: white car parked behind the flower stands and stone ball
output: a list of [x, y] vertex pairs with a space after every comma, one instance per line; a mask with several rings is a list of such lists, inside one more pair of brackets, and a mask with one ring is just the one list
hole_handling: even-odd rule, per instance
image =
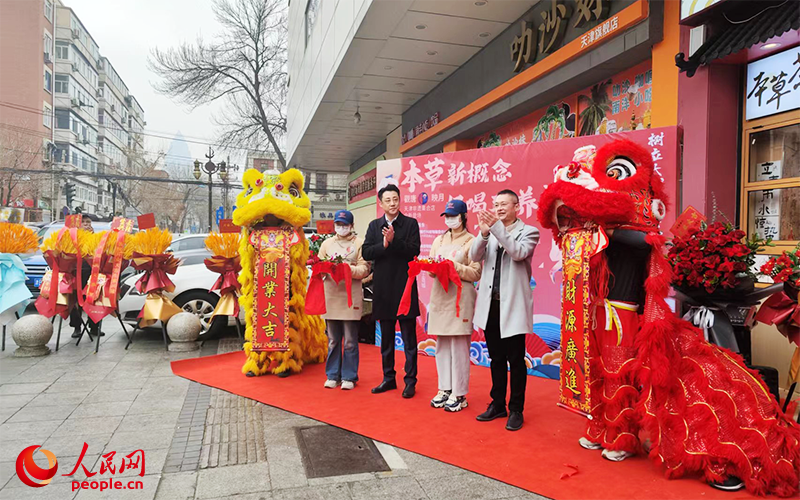
[[[176, 256], [182, 261], [175, 274], [170, 279], [175, 283], [175, 290], [172, 293], [165, 293], [164, 296], [172, 299], [178, 307], [186, 312], [197, 315], [203, 331], [200, 339], [212, 338], [219, 335], [228, 326], [235, 326], [236, 321], [233, 317], [217, 316], [211, 319], [214, 307], [219, 301], [219, 292], [209, 292], [214, 286], [214, 282], [219, 277], [218, 273], [209, 271], [203, 263], [210, 257], [208, 251], [189, 251], [176, 252]], [[122, 282], [120, 287], [119, 311], [122, 320], [132, 326], [138, 324], [139, 311], [144, 306], [145, 296], [140, 294], [135, 287], [136, 280], [141, 278], [141, 273], [129, 276]], [[227, 321], [226, 321], [227, 320]], [[244, 328], [244, 314], [239, 313], [239, 321]], [[154, 326], [160, 327], [160, 323]], [[242, 331], [244, 335], [244, 331]]]

